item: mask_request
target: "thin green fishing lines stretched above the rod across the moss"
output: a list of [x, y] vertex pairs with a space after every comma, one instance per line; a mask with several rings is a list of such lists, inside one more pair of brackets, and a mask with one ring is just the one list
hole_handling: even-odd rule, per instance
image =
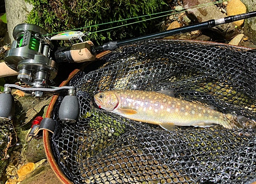
[[[214, 3], [206, 3], [206, 4], [202, 4], [202, 5], [191, 6], [191, 7], [187, 7], [186, 9], [188, 9], [188, 10], [194, 10], [194, 9], [197, 9], [197, 8], [203, 8], [203, 7], [207, 7], [207, 6], [210, 6], [210, 5], [215, 5], [215, 4], [218, 4], [218, 3], [224, 3], [224, 2], [228, 2], [228, 1], [230, 1], [230, 0], [223, 0], [223, 1], [218, 1], [218, 2], [214, 2]], [[178, 13], [186, 12], [186, 11], [188, 11], [188, 10], [183, 10], [183, 11], [180, 11], [180, 12], [178, 12]], [[134, 18], [141, 18], [141, 17], [145, 17], [145, 16], [157, 15], [157, 14], [160, 14], [160, 13], [167, 13], [167, 12], [172, 12], [172, 11], [176, 11], [176, 10], [168, 10], [168, 11], [159, 12], [159, 13], [153, 13], [153, 14], [148, 14], [148, 15], [141, 15], [141, 16], [132, 17], [132, 18], [126, 18], [126, 19], [122, 19], [122, 20], [115, 20], [115, 21], [110, 21], [110, 22], [105, 22], [105, 23], [102, 23], [102, 24], [98, 24], [98, 25], [92, 25], [92, 26], [87, 26], [87, 27], [83, 27], [83, 28], [76, 28], [76, 29], [67, 30], [67, 31], [60, 31], [60, 32], [51, 33], [51, 34], [47, 34], [47, 35], [42, 35], [42, 36], [48, 36], [48, 35], [53, 35], [53, 34], [59, 34], [59, 33], [68, 32], [68, 31], [81, 30], [81, 29], [85, 29], [85, 28], [91, 28], [91, 27], [95, 27], [95, 26], [101, 26], [101, 25], [106, 25], [106, 24], [112, 24], [112, 23], [114, 23], [114, 22], [120, 22], [120, 21], [125, 21], [125, 20], [131, 20], [131, 19], [134, 19]], [[158, 16], [158, 17], [148, 18], [148, 19], [145, 19], [145, 20], [139, 20], [139, 21], [136, 21], [136, 22], [132, 22], [132, 23], [130, 23], [130, 24], [125, 24], [125, 25], [121, 25], [121, 26], [117, 26], [117, 27], [113, 27], [113, 28], [108, 28], [108, 29], [100, 30], [100, 31], [89, 32], [88, 35], [93, 34], [93, 33], [97, 33], [97, 32], [101, 32], [101, 31], [106, 31], [106, 30], [110, 30], [110, 29], [119, 28], [119, 27], [122, 27], [122, 26], [128, 26], [128, 25], [136, 24], [136, 23], [138, 23], [138, 22], [142, 22], [142, 21], [146, 21], [146, 20], [151, 20], [151, 19], [154, 19], [154, 18], [159, 18], [159, 17], [163, 17], [163, 16], [167, 16], [167, 15], [174, 15], [174, 14], [177, 14], [177, 12], [171, 13], [171, 14], [165, 14], [165, 15]]]

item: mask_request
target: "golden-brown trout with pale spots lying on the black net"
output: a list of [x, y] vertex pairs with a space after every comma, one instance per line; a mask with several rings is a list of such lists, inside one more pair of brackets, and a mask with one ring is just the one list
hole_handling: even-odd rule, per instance
[[122, 117], [157, 124], [166, 130], [174, 126], [207, 127], [219, 124], [227, 129], [238, 129], [240, 121], [248, 119], [224, 114], [185, 100], [153, 91], [109, 90], [94, 96], [96, 104]]

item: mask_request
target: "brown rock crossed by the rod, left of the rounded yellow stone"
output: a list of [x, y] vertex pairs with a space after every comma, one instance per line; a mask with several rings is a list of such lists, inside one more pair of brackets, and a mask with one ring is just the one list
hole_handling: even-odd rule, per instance
[[[183, 0], [184, 8], [188, 10], [187, 11], [188, 17], [191, 20], [196, 19], [199, 22], [203, 22], [210, 19], [218, 19], [218, 18], [225, 17], [225, 15], [221, 13], [214, 5], [206, 6], [203, 8], [197, 8], [197, 9], [188, 9], [188, 7], [209, 4], [209, 3], [211, 3], [210, 0], [198, 0], [198, 1]], [[237, 28], [235, 28], [232, 23], [219, 25], [214, 28], [211, 28], [211, 30], [217, 33], [220, 37], [225, 39], [231, 39], [234, 36], [239, 34]]]

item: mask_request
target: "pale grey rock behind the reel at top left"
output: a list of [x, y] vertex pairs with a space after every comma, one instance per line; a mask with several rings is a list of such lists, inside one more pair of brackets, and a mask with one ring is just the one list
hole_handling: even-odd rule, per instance
[[5, 0], [6, 18], [9, 37], [11, 42], [14, 40], [12, 32], [15, 26], [22, 24], [27, 20], [27, 16], [32, 10], [32, 5], [25, 0]]

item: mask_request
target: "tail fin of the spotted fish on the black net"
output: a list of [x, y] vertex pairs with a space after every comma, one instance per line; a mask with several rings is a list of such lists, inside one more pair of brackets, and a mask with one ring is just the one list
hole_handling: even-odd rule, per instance
[[228, 129], [252, 129], [256, 127], [256, 122], [241, 115], [228, 113], [224, 114], [224, 124], [222, 125]]

